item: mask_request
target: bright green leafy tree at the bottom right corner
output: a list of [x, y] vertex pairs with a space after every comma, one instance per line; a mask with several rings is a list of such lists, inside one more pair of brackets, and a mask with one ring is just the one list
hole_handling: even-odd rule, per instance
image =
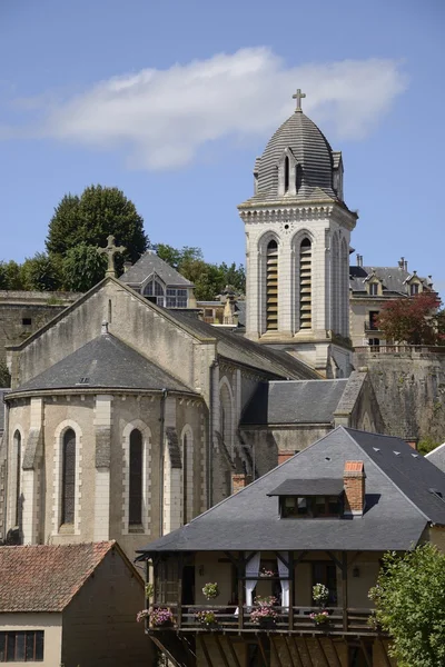
[[445, 554], [431, 544], [386, 554], [369, 597], [398, 667], [445, 665]]

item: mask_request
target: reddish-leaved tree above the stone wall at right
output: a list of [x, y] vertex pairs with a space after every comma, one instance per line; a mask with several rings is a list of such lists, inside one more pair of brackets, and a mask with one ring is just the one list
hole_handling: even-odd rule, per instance
[[435, 292], [388, 301], [377, 317], [377, 326], [389, 340], [407, 345], [444, 342], [444, 313]]

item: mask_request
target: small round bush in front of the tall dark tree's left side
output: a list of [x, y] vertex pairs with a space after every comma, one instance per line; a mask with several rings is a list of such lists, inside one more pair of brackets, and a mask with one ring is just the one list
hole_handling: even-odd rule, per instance
[[107, 258], [96, 246], [79, 243], [70, 248], [63, 260], [63, 285], [70, 291], [88, 291], [97, 285], [107, 270]]

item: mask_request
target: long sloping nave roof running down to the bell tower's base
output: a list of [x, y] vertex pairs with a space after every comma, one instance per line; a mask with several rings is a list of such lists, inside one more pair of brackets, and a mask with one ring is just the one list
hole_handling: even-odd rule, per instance
[[273, 350], [227, 329], [208, 325], [199, 320], [192, 312], [178, 312], [176, 310], [169, 310], [168, 312], [170, 319], [181, 323], [196, 336], [207, 339], [215, 338], [218, 355], [226, 359], [257, 368], [277, 377], [301, 379], [319, 377], [309, 366], [287, 352]]

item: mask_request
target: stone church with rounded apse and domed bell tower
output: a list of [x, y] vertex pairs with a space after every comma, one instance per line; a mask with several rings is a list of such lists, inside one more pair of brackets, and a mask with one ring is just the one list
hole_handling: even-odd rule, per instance
[[[255, 162], [246, 330], [148, 252], [8, 348], [0, 538], [135, 551], [337, 426], [383, 430], [349, 342], [342, 153], [296, 109]], [[2, 535], [1, 535], [2, 532]]]

